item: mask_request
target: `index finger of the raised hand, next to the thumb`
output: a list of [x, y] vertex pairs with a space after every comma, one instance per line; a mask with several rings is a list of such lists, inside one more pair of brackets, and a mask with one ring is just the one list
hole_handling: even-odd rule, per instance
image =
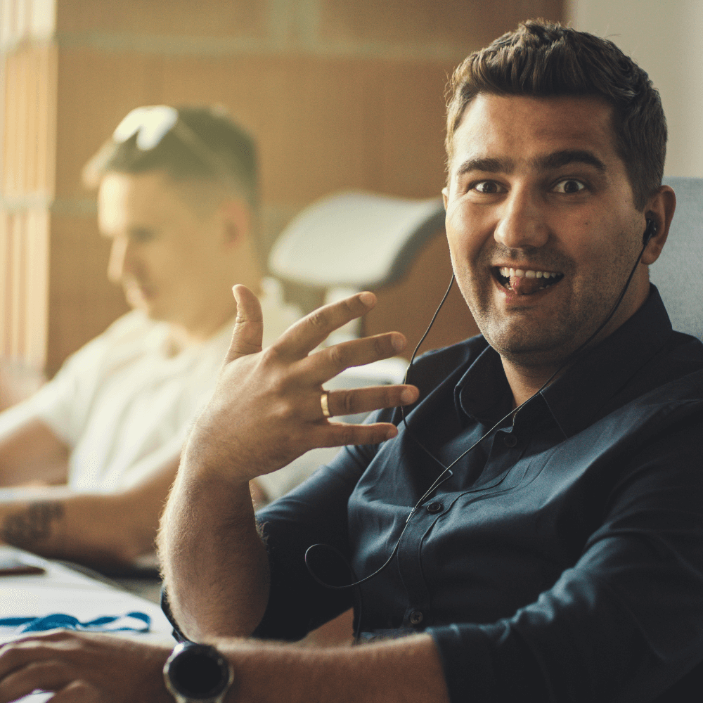
[[375, 295], [366, 291], [325, 305], [295, 323], [273, 347], [290, 359], [302, 359], [331, 332], [366, 315], [375, 304]]

